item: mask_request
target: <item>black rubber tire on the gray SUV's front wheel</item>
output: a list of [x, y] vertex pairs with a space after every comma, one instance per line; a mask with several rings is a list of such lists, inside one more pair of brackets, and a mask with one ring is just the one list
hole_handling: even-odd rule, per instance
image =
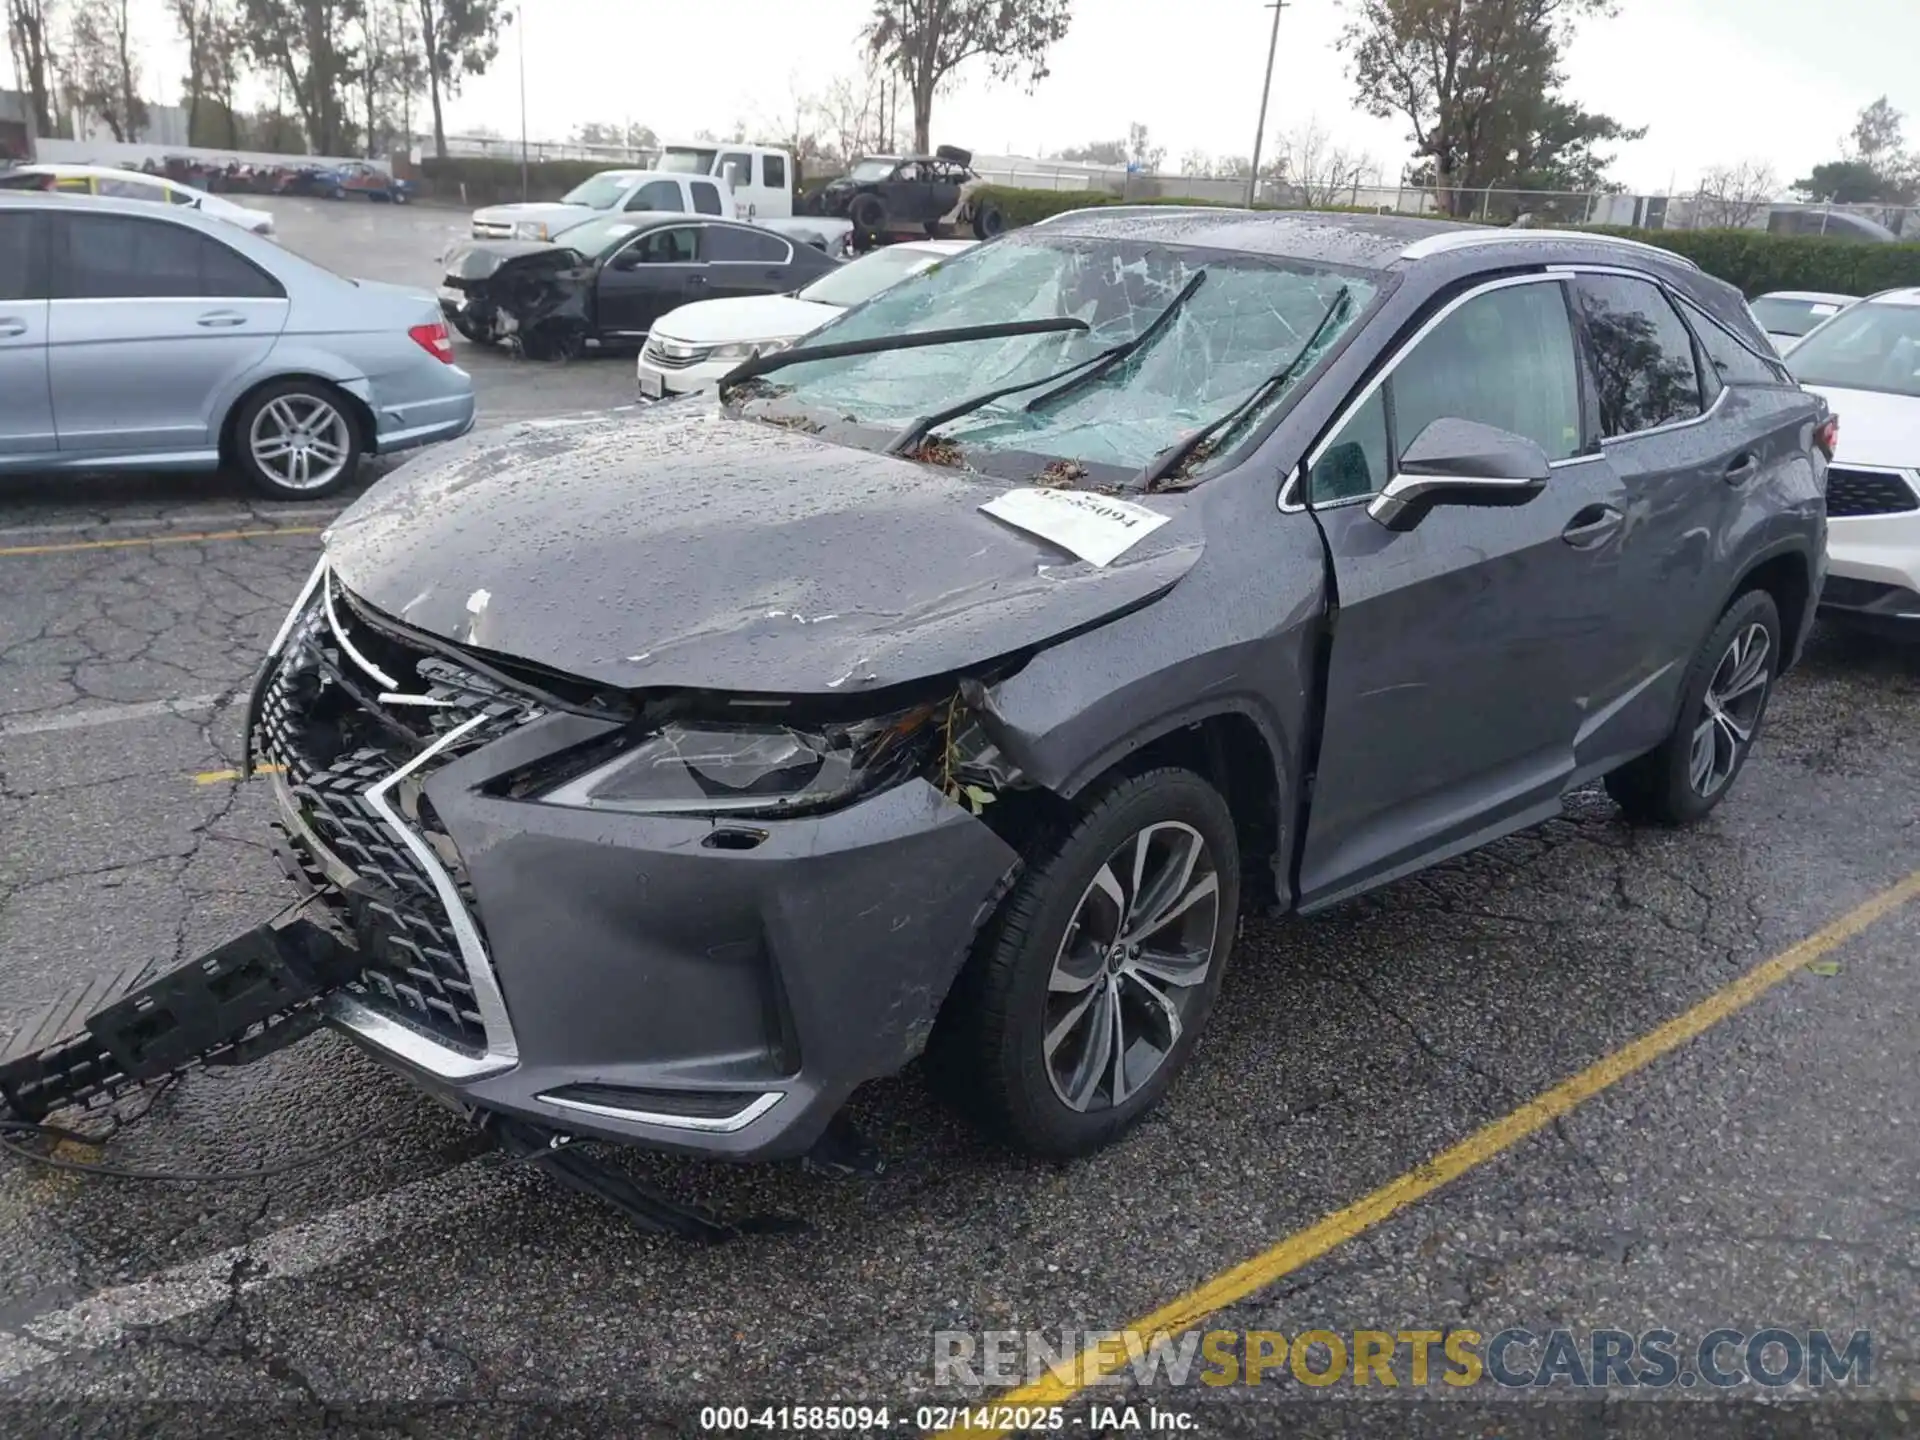
[[[1217, 879], [1210, 968], [1204, 981], [1179, 987], [1187, 1008], [1169, 1046], [1135, 1033], [1135, 1041], [1148, 1039], [1162, 1052], [1158, 1068], [1119, 1104], [1079, 1110], [1056, 1089], [1044, 1048], [1048, 1004], [1056, 995], [1050, 989], [1054, 968], [1066, 954], [1069, 927], [1081, 918], [1100, 870], [1150, 826], [1187, 828], [1204, 841]], [[1198, 876], [1200, 870], [1192, 874]], [[987, 1131], [1031, 1154], [1081, 1156], [1114, 1142], [1160, 1102], [1200, 1039], [1233, 952], [1238, 902], [1240, 852], [1233, 812], [1219, 791], [1194, 772], [1179, 768], [1116, 780], [1077, 818], [1037, 837], [1029, 847], [1025, 872], [981, 929], [941, 1012], [929, 1075], [954, 1104], [972, 1110]], [[1075, 927], [1073, 933], [1081, 931]], [[1098, 948], [1096, 945], [1094, 950]], [[1102, 975], [1114, 973], [1112, 966], [1104, 972], [1098, 966], [1096, 960], [1096, 979], [1089, 989], [1102, 985]], [[1121, 979], [1116, 977], [1112, 985], [1114, 995], [1127, 993], [1144, 1004], [1144, 996], [1127, 991]], [[1173, 989], [1165, 987], [1165, 993], [1171, 995]], [[1140, 1014], [1152, 1018], [1156, 1012]], [[1060, 1027], [1062, 1021], [1056, 1020], [1056, 1029]], [[1094, 1068], [1106, 1069], [1102, 1062]]]

